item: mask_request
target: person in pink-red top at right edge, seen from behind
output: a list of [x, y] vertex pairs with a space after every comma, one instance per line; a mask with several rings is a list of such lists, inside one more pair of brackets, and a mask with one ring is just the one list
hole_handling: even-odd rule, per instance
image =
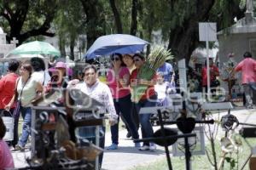
[[246, 107], [253, 108], [253, 89], [250, 85], [256, 87], [256, 60], [252, 59], [252, 54], [246, 52], [243, 54], [244, 59], [236, 65], [235, 71], [241, 71], [241, 83], [243, 86], [244, 94], [246, 96]]

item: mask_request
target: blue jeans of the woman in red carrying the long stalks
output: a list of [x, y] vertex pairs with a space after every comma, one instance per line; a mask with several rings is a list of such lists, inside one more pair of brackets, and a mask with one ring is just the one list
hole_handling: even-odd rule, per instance
[[[150, 99], [141, 99], [136, 105], [137, 112], [139, 113], [141, 108], [143, 107], [154, 107], [156, 105], [156, 99], [157, 99], [156, 95], [151, 96]], [[142, 125], [143, 138], [153, 137], [154, 131], [153, 131], [152, 124], [150, 122], [151, 115], [152, 113], [139, 114], [140, 122]], [[143, 145], [149, 145], [149, 142], [143, 142]]]

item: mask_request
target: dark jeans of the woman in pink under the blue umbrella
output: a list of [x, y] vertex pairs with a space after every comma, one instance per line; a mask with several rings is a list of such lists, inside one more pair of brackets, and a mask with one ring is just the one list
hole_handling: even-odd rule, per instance
[[[125, 125], [128, 126], [132, 139], [138, 139], [139, 134], [137, 132], [136, 124], [132, 118], [131, 111], [132, 111], [132, 103], [131, 103], [131, 94], [120, 98], [120, 99], [113, 99], [114, 108], [116, 114], [122, 114]], [[118, 123], [114, 124], [110, 127], [111, 130], [111, 139], [113, 144], [119, 144], [119, 121]]]

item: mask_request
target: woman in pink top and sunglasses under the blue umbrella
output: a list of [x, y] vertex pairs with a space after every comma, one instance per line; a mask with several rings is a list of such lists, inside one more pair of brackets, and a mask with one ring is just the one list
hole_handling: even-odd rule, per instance
[[[116, 113], [122, 114], [125, 124], [131, 131], [133, 139], [138, 139], [139, 135], [137, 127], [131, 116], [131, 92], [129, 86], [130, 72], [125, 67], [121, 54], [111, 55], [112, 68], [108, 70], [107, 82], [113, 96], [113, 103]], [[119, 144], [119, 123], [113, 125], [111, 128], [112, 144], [108, 150], [117, 150]], [[139, 143], [135, 143], [139, 147]]]

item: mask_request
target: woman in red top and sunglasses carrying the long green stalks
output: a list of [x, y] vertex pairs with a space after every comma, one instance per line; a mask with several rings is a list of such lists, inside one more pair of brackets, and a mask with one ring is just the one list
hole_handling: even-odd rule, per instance
[[[154, 107], [156, 105], [157, 95], [154, 91], [154, 84], [156, 82], [156, 75], [153, 78], [153, 81], [146, 81], [137, 78], [137, 73], [139, 69], [144, 65], [145, 58], [143, 54], [134, 54], [133, 61], [135, 63], [136, 69], [131, 72], [131, 87], [137, 85], [147, 85], [148, 88], [146, 89], [145, 93], [143, 94], [142, 98], [137, 102], [137, 112], [141, 110], [143, 107]], [[148, 114], [139, 114], [140, 123], [142, 125], [142, 134], [143, 138], [151, 138], [153, 137], [153, 127], [150, 122], [151, 113]], [[139, 150], [151, 150], [154, 151], [156, 146], [154, 143], [143, 142], [143, 146]]]

